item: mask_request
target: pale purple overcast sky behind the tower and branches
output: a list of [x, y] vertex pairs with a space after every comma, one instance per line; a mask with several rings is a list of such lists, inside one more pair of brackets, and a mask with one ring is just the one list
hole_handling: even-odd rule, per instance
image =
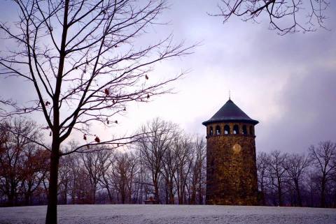
[[[174, 83], [177, 94], [130, 105], [116, 128], [94, 127], [101, 139], [132, 133], [153, 117], [205, 135], [202, 121], [223, 106], [230, 89], [241, 110], [260, 121], [255, 129], [257, 151], [302, 152], [321, 140], [336, 141], [335, 3], [327, 14], [331, 31], [279, 36], [267, 29], [267, 20], [252, 24], [233, 19], [223, 24], [220, 17], [210, 17], [207, 12], [216, 11], [214, 0], [169, 2], [170, 9], [161, 17], [169, 25], [149, 29], [151, 38], [172, 32], [187, 45], [202, 45], [188, 57], [158, 64], [151, 75], [190, 72]], [[14, 8], [1, 8], [1, 20], [15, 13]], [[0, 94], [25, 100], [34, 96], [27, 82], [14, 79], [0, 80]]]

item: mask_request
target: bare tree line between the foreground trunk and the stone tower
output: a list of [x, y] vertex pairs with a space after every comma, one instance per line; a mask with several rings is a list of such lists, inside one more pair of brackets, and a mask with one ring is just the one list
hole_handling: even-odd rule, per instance
[[139, 135], [125, 151], [98, 148], [62, 159], [59, 202], [202, 204], [204, 140], [160, 119], [141, 127]]

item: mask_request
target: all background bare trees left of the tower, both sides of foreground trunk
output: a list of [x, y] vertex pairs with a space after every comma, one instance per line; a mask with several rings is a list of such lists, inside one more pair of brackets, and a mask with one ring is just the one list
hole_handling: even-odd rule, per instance
[[[27, 133], [30, 133], [27, 135]], [[25, 137], [25, 136], [29, 137]], [[59, 204], [202, 204], [205, 197], [205, 142], [171, 122], [154, 119], [139, 129], [124, 150], [94, 147], [59, 160]], [[1, 124], [0, 203], [46, 204], [50, 152], [31, 121]], [[75, 143], [69, 145], [76, 148]], [[71, 150], [71, 149], [67, 149]], [[66, 150], [64, 150], [66, 151]], [[30, 165], [31, 167], [28, 167]]]

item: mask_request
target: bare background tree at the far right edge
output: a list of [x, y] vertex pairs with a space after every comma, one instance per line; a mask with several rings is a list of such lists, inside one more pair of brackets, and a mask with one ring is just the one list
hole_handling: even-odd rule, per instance
[[318, 177], [321, 184], [321, 207], [325, 207], [325, 188], [335, 172], [336, 144], [330, 141], [319, 142], [318, 146], [309, 147], [309, 156], [312, 163], [318, 168]]

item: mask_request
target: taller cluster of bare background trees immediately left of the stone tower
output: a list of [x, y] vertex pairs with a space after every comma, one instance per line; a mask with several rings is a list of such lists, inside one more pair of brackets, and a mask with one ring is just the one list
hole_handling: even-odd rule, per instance
[[[136, 144], [144, 179], [157, 203], [202, 204], [206, 149], [203, 137], [190, 137], [167, 121], [154, 119], [141, 128]], [[147, 195], [146, 195], [147, 196]]]

